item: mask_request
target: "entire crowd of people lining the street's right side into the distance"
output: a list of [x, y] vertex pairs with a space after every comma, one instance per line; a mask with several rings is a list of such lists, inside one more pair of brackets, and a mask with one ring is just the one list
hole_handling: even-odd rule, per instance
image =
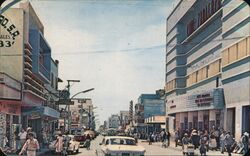
[[133, 135], [134, 138], [147, 140], [149, 145], [153, 142], [162, 142], [162, 147], [170, 145], [170, 138], [174, 140], [175, 147], [181, 145], [182, 147], [187, 144], [192, 144], [195, 149], [198, 149], [201, 154], [206, 155], [209, 150], [220, 151], [222, 154], [227, 152], [230, 156], [232, 152], [242, 153], [246, 155], [249, 150], [249, 133], [244, 132], [240, 140], [235, 140], [230, 132], [223, 129], [215, 128], [214, 126], [210, 131], [192, 130], [176, 130], [174, 134], [169, 131], [162, 130], [161, 132], [137, 132]]

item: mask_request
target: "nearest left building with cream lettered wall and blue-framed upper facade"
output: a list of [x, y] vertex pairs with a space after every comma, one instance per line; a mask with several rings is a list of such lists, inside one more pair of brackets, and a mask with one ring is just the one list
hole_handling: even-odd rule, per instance
[[45, 87], [52, 81], [51, 48], [34, 9], [28, 2], [21, 3], [4, 12], [1, 19], [0, 114], [6, 122], [1, 122], [0, 137], [6, 135], [14, 147], [14, 131], [30, 126], [40, 139], [42, 128], [52, 130], [51, 122], [58, 119], [59, 112]]

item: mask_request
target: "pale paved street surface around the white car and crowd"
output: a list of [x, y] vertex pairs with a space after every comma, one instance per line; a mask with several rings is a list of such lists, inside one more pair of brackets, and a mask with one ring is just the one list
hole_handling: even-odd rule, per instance
[[[102, 136], [97, 137], [94, 141], [91, 142], [90, 150], [86, 148], [81, 148], [80, 152], [77, 154], [79, 156], [97, 156], [100, 155], [100, 145], [99, 143], [102, 140]], [[142, 145], [146, 149], [146, 156], [163, 156], [163, 155], [182, 155], [181, 146], [174, 147], [174, 143], [171, 142], [172, 145], [168, 148], [162, 148], [161, 143], [153, 143], [152, 145], [148, 145], [148, 142], [139, 140], [139, 145]], [[96, 153], [97, 151], [97, 153]], [[198, 150], [195, 150], [195, 155], [200, 155]], [[221, 154], [219, 151], [209, 151], [207, 153], [208, 156], [227, 156], [227, 153]], [[239, 154], [232, 154], [234, 156], [240, 156]]]

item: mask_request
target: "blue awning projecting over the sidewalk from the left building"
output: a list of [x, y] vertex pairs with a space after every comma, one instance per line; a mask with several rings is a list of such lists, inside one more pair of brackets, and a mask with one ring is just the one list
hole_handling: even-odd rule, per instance
[[22, 107], [22, 115], [36, 115], [36, 116], [48, 116], [52, 118], [59, 119], [60, 113], [56, 111], [53, 108], [50, 107], [44, 107], [44, 106], [27, 106], [27, 107]]

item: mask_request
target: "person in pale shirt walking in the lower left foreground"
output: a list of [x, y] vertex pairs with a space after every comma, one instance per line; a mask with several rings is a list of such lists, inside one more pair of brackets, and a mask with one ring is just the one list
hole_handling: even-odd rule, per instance
[[23, 148], [21, 152], [19, 153], [19, 156], [21, 156], [24, 153], [24, 151], [27, 152], [27, 156], [36, 156], [36, 150], [39, 149], [39, 143], [34, 138], [33, 133], [28, 133], [27, 136], [28, 136], [28, 140], [23, 145]]

